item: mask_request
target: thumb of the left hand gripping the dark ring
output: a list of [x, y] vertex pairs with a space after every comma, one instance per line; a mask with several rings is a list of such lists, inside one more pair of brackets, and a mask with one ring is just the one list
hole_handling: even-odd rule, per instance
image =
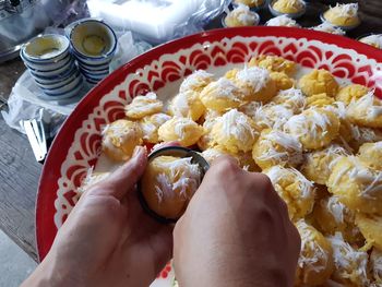
[[88, 190], [88, 194], [112, 195], [117, 200], [123, 199], [143, 175], [146, 164], [146, 148], [136, 146], [130, 160], [96, 184], [96, 189]]

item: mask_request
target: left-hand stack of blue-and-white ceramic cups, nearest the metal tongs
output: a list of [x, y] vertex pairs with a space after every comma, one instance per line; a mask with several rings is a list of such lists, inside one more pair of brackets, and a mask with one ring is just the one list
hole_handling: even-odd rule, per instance
[[47, 99], [63, 99], [80, 94], [84, 81], [70, 43], [61, 35], [38, 36], [23, 45], [21, 58]]

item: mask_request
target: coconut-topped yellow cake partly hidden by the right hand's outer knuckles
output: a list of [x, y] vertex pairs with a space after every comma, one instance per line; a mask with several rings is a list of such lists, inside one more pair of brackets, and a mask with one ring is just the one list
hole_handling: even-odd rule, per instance
[[294, 168], [274, 166], [263, 172], [271, 179], [278, 195], [288, 206], [293, 220], [303, 218], [314, 205], [314, 184]]

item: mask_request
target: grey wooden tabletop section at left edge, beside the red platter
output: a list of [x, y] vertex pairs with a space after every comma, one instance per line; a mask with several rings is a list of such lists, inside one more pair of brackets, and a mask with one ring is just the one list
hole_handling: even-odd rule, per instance
[[27, 139], [0, 119], [0, 228], [37, 261], [35, 202], [41, 165]]

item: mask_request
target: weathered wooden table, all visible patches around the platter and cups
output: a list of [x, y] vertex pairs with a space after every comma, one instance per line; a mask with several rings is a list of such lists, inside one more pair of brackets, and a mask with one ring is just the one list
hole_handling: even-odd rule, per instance
[[[324, 4], [334, 1], [311, 1], [307, 14], [299, 20], [303, 26], [320, 23], [319, 13]], [[346, 2], [346, 1], [343, 1]], [[350, 37], [359, 37], [370, 32], [382, 33], [382, 1], [359, 1], [362, 24]], [[270, 13], [261, 13], [262, 22]], [[218, 27], [219, 19], [208, 25]], [[382, 52], [382, 51], [381, 51]], [[8, 97], [12, 86], [24, 71], [21, 60], [0, 64], [0, 97]], [[11, 130], [0, 117], [0, 228], [28, 255], [37, 260], [35, 247], [35, 202], [41, 165], [35, 162], [26, 137]]]

